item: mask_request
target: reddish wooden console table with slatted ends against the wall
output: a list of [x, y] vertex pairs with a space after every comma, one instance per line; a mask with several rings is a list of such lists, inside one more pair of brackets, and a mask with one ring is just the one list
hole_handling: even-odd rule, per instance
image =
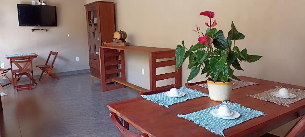
[[[108, 50], [105, 50], [108, 49]], [[110, 50], [109, 50], [110, 49]], [[150, 89], [146, 90], [142, 87], [133, 85], [131, 83], [126, 82], [126, 73], [125, 73], [125, 54], [124, 51], [132, 51], [132, 52], [139, 52], [149, 54], [149, 81], [150, 81]], [[156, 82], [163, 79], [170, 79], [175, 78], [175, 83], [177, 88], [181, 87], [181, 68], [177, 71], [175, 68], [174, 72], [165, 73], [156, 75], [156, 68], [166, 67], [176, 65], [176, 58], [175, 58], [175, 49], [170, 48], [160, 48], [160, 47], [144, 47], [144, 46], [99, 46], [99, 53], [100, 53], [100, 75], [101, 75], [101, 86], [102, 91], [114, 90], [118, 88], [124, 88], [126, 86], [131, 87], [138, 91], [149, 92], [153, 90], [159, 90], [166, 87], [171, 86], [161, 86], [157, 87]], [[113, 57], [113, 56], [120, 56], [120, 60], [117, 61], [106, 61], [105, 57]], [[156, 62], [156, 59], [161, 58], [175, 58], [174, 60], [168, 61], [159, 61]], [[105, 70], [106, 66], [112, 65], [119, 65], [120, 68], [117, 69], [107, 69]], [[113, 73], [121, 73], [121, 77], [111, 77], [109, 78], [109, 74]], [[108, 79], [106, 79], [106, 76]], [[114, 85], [106, 87], [106, 83], [117, 82], [121, 83], [121, 85]]]

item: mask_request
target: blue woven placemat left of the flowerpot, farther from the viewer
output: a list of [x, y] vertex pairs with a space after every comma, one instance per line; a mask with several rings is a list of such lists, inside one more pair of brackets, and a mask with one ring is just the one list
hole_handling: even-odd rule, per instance
[[186, 100], [191, 100], [197, 97], [209, 97], [208, 94], [206, 93], [202, 93], [200, 91], [197, 90], [192, 90], [189, 88], [186, 88], [184, 86], [182, 86], [180, 89], [178, 89], [178, 91], [184, 92], [185, 95], [183, 97], [167, 97], [164, 95], [164, 92], [162, 93], [157, 93], [157, 94], [152, 94], [152, 95], [142, 95], [143, 98], [145, 98], [146, 100], [155, 102], [156, 104], [165, 106], [165, 107], [169, 107], [172, 104], [177, 104], [180, 102], [184, 102]]

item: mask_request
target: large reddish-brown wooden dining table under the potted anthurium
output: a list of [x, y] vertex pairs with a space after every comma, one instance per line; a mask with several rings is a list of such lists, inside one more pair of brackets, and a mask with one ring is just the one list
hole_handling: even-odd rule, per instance
[[[264, 135], [279, 126], [288, 123], [305, 113], [305, 99], [290, 104], [289, 107], [274, 104], [264, 100], [247, 97], [246, 94], [256, 94], [274, 89], [274, 86], [283, 86], [304, 90], [305, 87], [285, 83], [278, 83], [263, 79], [238, 76], [241, 80], [256, 82], [259, 85], [251, 85], [232, 90], [230, 101], [241, 104], [244, 107], [265, 112], [265, 116], [250, 119], [239, 125], [227, 128], [223, 131], [226, 137], [257, 137]], [[208, 94], [208, 89], [200, 86], [191, 86], [191, 89]], [[221, 104], [210, 100], [208, 97], [199, 97], [169, 108], [137, 97], [107, 104], [110, 111], [116, 113], [124, 121], [128, 122], [150, 137], [214, 137], [219, 136], [210, 132], [193, 121], [179, 118], [178, 114], [189, 114], [199, 110]]]

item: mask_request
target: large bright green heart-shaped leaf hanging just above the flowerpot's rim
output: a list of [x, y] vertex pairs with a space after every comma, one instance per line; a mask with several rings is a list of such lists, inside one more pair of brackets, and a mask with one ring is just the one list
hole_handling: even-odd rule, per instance
[[213, 81], [214, 82], [217, 81], [219, 73], [222, 72], [222, 69], [224, 67], [226, 60], [227, 60], [227, 54], [222, 56], [220, 58], [220, 60], [218, 60], [217, 58], [210, 59], [210, 67], [213, 72]]

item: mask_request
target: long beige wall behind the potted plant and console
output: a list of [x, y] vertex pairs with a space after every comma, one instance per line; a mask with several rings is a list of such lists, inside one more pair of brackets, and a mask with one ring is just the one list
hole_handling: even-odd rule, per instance
[[[223, 30], [225, 37], [231, 29], [232, 20], [237, 30], [246, 35], [244, 40], [236, 41], [236, 45], [240, 49], [247, 47], [249, 54], [264, 56], [254, 63], [242, 63], [245, 71], [236, 71], [235, 75], [305, 86], [302, 56], [305, 51], [305, 1], [115, 0], [115, 3], [117, 30], [126, 31], [127, 41], [131, 44], [152, 47], [175, 48], [182, 40], [187, 47], [197, 43], [198, 34], [192, 30], [200, 25], [205, 31], [207, 27], [204, 23], [208, 21], [199, 13], [211, 10], [215, 12], [216, 28]], [[127, 59], [132, 58], [128, 56], [133, 54], [126, 56]], [[145, 55], [142, 57], [147, 58]], [[139, 58], [135, 61], [137, 69], [127, 65], [128, 75], [139, 76], [140, 66], [148, 68], [148, 60]], [[185, 61], [182, 66], [183, 85], [190, 72], [187, 64], [188, 61]], [[144, 87], [149, 87], [146, 82], [149, 77], [127, 80], [131, 83], [144, 81], [147, 84]], [[197, 76], [192, 81], [202, 80], [204, 76]]]

